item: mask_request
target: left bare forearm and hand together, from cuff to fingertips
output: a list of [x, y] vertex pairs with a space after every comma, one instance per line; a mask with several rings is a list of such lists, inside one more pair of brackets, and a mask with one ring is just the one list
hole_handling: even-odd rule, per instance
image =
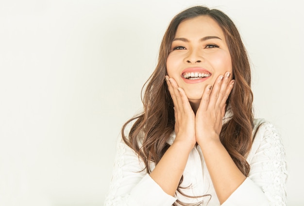
[[185, 91], [169, 76], [166, 76], [166, 81], [174, 103], [176, 137], [150, 176], [167, 194], [174, 197], [188, 156], [196, 144], [195, 115]]

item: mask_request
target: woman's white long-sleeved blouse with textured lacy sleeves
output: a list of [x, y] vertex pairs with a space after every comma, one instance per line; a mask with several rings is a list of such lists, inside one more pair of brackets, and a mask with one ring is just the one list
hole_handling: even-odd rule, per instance
[[[254, 120], [257, 125], [265, 120]], [[168, 143], [172, 144], [173, 133]], [[222, 206], [286, 206], [287, 168], [282, 140], [269, 122], [263, 123], [247, 157], [250, 173]], [[151, 163], [151, 170], [155, 165]], [[165, 193], [147, 174], [145, 165], [120, 138], [117, 144], [110, 189], [104, 206], [171, 206], [177, 199], [197, 206], [220, 206], [200, 146], [189, 154], [182, 191], [198, 198], [175, 197]]]

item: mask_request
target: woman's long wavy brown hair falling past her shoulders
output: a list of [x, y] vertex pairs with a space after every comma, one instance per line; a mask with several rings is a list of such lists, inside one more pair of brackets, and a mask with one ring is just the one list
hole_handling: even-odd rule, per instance
[[[157, 164], [169, 148], [167, 140], [174, 130], [174, 110], [164, 80], [167, 73], [166, 61], [178, 25], [185, 19], [201, 15], [212, 17], [220, 25], [226, 37], [232, 60], [233, 79], [236, 81], [226, 106], [226, 110], [229, 110], [232, 116], [222, 126], [220, 141], [238, 169], [248, 176], [250, 166], [246, 161], [246, 156], [251, 149], [253, 136], [253, 93], [250, 87], [250, 64], [235, 24], [217, 9], [195, 6], [186, 9], [172, 19], [160, 46], [156, 69], [143, 87], [143, 90], [145, 88], [142, 97], [143, 112], [123, 125], [122, 138], [144, 161], [148, 173], [151, 172], [149, 164], [151, 162]], [[133, 121], [135, 122], [126, 137], [125, 128]], [[180, 186], [177, 190], [180, 191]]]

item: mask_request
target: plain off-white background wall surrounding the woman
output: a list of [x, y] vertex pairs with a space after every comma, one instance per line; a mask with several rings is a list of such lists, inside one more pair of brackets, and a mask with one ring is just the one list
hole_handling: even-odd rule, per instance
[[297, 0], [0, 0], [0, 206], [101, 206], [116, 139], [181, 10], [236, 23], [256, 117], [282, 134], [288, 205], [304, 204], [304, 26]]

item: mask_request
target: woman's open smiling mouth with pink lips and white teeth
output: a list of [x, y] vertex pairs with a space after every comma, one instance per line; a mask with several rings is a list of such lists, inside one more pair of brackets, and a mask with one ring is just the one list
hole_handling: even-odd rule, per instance
[[181, 77], [188, 84], [201, 83], [207, 80], [211, 73], [203, 68], [187, 68], [184, 69]]

